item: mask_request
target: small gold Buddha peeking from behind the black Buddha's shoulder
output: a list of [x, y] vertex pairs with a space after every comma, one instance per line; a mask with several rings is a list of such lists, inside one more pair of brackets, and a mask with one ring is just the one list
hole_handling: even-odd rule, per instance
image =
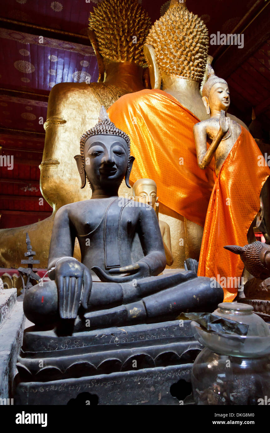
[[[159, 203], [156, 196], [156, 182], [152, 179], [139, 179], [133, 184], [133, 200], [141, 203], [149, 204], [156, 211], [156, 216], [159, 219]], [[166, 255], [166, 265], [171, 266], [173, 263], [171, 233], [169, 224], [159, 220], [159, 228], [163, 239], [163, 246]]]

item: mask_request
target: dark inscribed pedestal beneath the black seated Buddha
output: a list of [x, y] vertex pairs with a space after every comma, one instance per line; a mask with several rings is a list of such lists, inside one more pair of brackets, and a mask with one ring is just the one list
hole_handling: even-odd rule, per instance
[[191, 404], [190, 321], [57, 336], [25, 331], [16, 404]]

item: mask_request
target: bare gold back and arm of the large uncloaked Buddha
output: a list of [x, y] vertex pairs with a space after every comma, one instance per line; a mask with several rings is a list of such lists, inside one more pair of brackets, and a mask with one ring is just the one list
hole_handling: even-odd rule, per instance
[[120, 89], [103, 83], [61, 83], [53, 87], [40, 165], [40, 187], [56, 210], [64, 204], [91, 197], [88, 185], [80, 189], [74, 156], [80, 153], [81, 135], [97, 123], [101, 104], [106, 108], [119, 96]]

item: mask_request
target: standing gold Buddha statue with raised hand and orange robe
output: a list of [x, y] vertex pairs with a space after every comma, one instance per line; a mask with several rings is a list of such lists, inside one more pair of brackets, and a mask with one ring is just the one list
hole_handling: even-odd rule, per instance
[[[202, 101], [211, 117], [194, 126], [197, 160], [203, 170], [214, 160], [215, 185], [205, 220], [198, 275], [240, 281], [244, 264], [240, 256], [223, 247], [247, 243], [250, 224], [260, 210], [261, 188], [270, 170], [258, 164], [262, 155], [250, 132], [227, 116], [228, 84], [214, 74], [211, 66]], [[208, 139], [211, 145], [207, 149]], [[226, 302], [237, 295], [239, 287], [232, 285], [223, 287]]]

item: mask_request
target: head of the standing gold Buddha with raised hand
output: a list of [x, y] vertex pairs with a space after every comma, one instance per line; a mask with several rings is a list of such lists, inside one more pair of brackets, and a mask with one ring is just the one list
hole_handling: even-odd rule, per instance
[[228, 110], [230, 106], [230, 92], [227, 81], [215, 75], [211, 65], [208, 65], [208, 80], [202, 88], [202, 100], [207, 114], [213, 110]]

